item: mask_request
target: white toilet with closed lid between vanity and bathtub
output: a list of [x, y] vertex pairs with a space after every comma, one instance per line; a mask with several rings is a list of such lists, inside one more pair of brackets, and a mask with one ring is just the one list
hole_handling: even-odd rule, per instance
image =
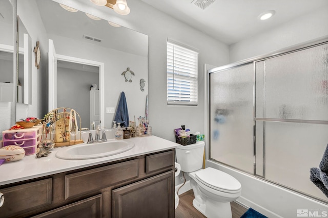
[[231, 218], [230, 202], [241, 194], [241, 184], [234, 177], [218, 169], [202, 169], [205, 143], [197, 141], [176, 148], [176, 159], [181, 171], [190, 176], [194, 191], [194, 207], [208, 218]]

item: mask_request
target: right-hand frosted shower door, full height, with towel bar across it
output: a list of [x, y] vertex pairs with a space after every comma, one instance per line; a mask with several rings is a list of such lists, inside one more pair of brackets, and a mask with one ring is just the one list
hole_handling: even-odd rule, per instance
[[255, 62], [256, 174], [326, 200], [309, 179], [328, 143], [328, 45]]

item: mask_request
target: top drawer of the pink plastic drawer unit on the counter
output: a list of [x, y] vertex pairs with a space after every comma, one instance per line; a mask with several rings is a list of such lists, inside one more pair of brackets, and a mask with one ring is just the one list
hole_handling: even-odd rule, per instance
[[42, 125], [34, 126], [28, 129], [5, 130], [2, 132], [3, 140], [25, 140], [36, 138], [42, 134]]

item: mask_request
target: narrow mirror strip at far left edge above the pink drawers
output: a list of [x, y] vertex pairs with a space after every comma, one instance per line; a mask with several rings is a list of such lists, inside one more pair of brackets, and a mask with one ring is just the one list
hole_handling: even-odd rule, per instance
[[0, 102], [13, 102], [13, 7], [9, 1], [0, 1], [0, 29]]

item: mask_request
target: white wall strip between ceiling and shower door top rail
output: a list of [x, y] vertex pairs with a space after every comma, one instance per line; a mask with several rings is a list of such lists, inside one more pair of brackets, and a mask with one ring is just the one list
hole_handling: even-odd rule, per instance
[[[274, 17], [273, 17], [274, 19]], [[328, 36], [328, 8], [290, 20], [271, 31], [230, 45], [230, 62], [236, 62], [285, 47]]]

